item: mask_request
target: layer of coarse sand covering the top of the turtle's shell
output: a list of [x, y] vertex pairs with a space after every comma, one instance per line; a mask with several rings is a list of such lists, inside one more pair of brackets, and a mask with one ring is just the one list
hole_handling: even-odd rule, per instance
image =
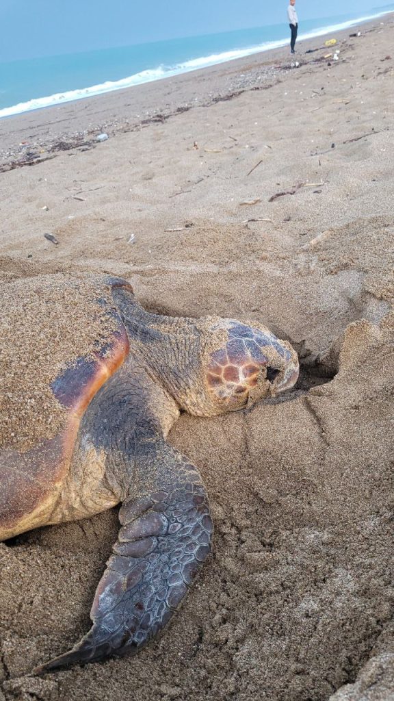
[[[114, 324], [97, 304], [110, 301], [99, 277], [70, 283], [62, 273], [42, 276], [37, 266], [10, 262], [0, 299], [0, 448], [26, 451], [64, 426], [66, 412], [50, 383], [96, 341], [105, 343]], [[2, 259], [0, 269], [7, 263]]]

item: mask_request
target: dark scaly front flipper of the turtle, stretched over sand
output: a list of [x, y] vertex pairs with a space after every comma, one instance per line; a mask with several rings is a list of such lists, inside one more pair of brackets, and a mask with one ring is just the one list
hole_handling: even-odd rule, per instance
[[139, 651], [168, 622], [208, 556], [212, 521], [198, 470], [164, 441], [156, 448], [156, 464], [148, 458], [145, 466], [155, 476], [144, 470], [153, 488], [126, 499], [119, 512], [118, 541], [90, 611], [93, 627], [36, 674]]

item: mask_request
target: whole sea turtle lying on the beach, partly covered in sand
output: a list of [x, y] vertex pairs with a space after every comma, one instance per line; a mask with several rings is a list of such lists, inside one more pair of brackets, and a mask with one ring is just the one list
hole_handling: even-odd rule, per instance
[[203, 482], [165, 437], [180, 411], [291, 388], [297, 353], [258, 322], [149, 313], [105, 275], [17, 280], [0, 306], [0, 540], [122, 504], [93, 627], [36, 672], [136, 652], [210, 552]]

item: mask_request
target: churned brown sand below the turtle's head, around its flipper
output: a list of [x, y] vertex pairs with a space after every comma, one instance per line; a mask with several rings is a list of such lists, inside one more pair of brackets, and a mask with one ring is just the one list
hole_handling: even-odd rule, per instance
[[[298, 700], [311, 689], [320, 699], [348, 681], [353, 660], [380, 653], [394, 601], [393, 331], [355, 322], [340, 346], [337, 376], [307, 395], [219, 419], [184, 416], [172, 431], [201, 466], [216, 531], [213, 557], [163, 638], [133, 660], [7, 690], [88, 700], [99, 683], [103, 697], [120, 700], [133, 684], [138, 698], [170, 699], [182, 697], [187, 677], [196, 699], [208, 682], [218, 700]], [[3, 546], [15, 582], [4, 598], [6, 669], [27, 672], [86, 629], [116, 527], [109, 513]], [[38, 610], [46, 616], [34, 618], [32, 634]], [[147, 668], [156, 674], [147, 678]]]

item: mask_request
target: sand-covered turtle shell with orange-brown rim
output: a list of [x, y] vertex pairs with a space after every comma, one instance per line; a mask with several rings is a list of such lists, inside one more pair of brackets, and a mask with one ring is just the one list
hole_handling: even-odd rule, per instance
[[0, 540], [47, 521], [81, 416], [129, 352], [100, 275], [42, 275], [0, 290]]

